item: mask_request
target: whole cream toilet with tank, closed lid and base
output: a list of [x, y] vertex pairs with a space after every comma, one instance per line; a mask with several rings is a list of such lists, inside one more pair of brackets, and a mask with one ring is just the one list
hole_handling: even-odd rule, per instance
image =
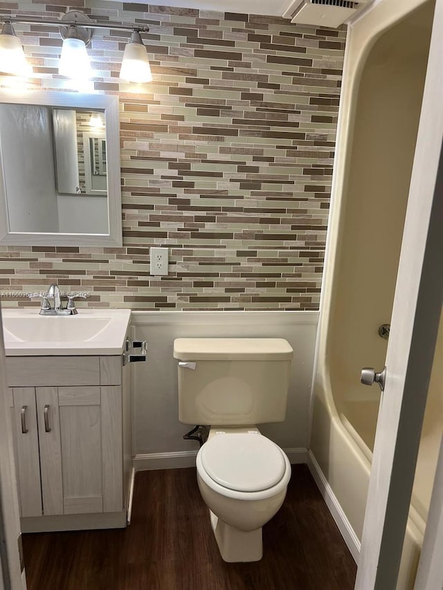
[[210, 426], [197, 483], [226, 562], [262, 558], [262, 526], [282, 506], [291, 465], [257, 424], [282, 422], [293, 349], [281, 338], [178, 338], [179, 420]]

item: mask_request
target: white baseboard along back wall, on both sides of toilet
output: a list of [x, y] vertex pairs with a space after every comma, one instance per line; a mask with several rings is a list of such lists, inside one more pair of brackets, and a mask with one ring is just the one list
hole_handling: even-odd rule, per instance
[[[283, 449], [290, 463], [307, 463], [307, 449]], [[179, 451], [171, 453], [141, 453], [134, 457], [133, 465], [136, 471], [150, 471], [154, 469], [181, 469], [195, 467], [197, 450]]]

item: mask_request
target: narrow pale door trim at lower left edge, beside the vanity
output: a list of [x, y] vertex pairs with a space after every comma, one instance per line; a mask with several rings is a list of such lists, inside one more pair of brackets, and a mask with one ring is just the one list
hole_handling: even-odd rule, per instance
[[26, 582], [19, 555], [19, 503], [5, 365], [0, 315], [0, 589], [18, 590], [26, 588]]

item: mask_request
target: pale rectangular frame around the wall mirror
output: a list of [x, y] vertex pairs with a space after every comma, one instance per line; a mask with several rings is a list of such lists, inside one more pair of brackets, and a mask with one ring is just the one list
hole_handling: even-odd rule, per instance
[[98, 94], [29, 91], [23, 95], [0, 93], [0, 104], [39, 104], [46, 107], [71, 107], [105, 111], [107, 159], [107, 199], [109, 234], [65, 234], [11, 232], [8, 220], [6, 183], [0, 136], [0, 245], [6, 246], [122, 246], [122, 205], [120, 180], [120, 120], [118, 98]]

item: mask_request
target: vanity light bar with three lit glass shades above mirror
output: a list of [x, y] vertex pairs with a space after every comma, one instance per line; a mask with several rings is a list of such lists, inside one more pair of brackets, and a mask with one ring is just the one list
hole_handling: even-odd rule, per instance
[[0, 23], [3, 23], [0, 33], [0, 73], [26, 75], [32, 71], [30, 66], [26, 64], [19, 37], [15, 35], [12, 28], [13, 22], [58, 26], [60, 35], [64, 39], [59, 73], [75, 80], [85, 80], [92, 75], [87, 45], [91, 41], [94, 29], [132, 30], [131, 40], [125, 46], [120, 78], [128, 82], [150, 82], [152, 80], [150, 62], [141, 38], [141, 33], [147, 33], [150, 30], [148, 26], [124, 25], [111, 21], [99, 23], [92, 21], [80, 10], [69, 10], [61, 19], [39, 19], [33, 16], [12, 17], [0, 14]]

